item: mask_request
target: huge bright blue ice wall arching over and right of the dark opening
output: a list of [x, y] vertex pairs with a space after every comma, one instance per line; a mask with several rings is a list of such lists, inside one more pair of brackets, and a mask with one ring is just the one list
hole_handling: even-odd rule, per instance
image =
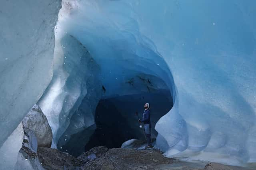
[[88, 48], [106, 93], [122, 92], [114, 87], [131, 70], [168, 84], [174, 107], [156, 125], [166, 155], [255, 161], [255, 1], [64, 3], [57, 29]]

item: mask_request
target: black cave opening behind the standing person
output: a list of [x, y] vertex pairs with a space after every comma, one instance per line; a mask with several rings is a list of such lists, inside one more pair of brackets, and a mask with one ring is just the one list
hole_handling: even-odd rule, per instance
[[86, 144], [85, 150], [95, 146], [118, 148], [132, 138], [144, 140], [135, 112], [138, 111], [141, 118], [145, 103], [150, 103], [151, 137], [156, 138], [156, 122], [173, 106], [170, 91], [165, 89], [101, 99], [95, 113], [96, 130]]

